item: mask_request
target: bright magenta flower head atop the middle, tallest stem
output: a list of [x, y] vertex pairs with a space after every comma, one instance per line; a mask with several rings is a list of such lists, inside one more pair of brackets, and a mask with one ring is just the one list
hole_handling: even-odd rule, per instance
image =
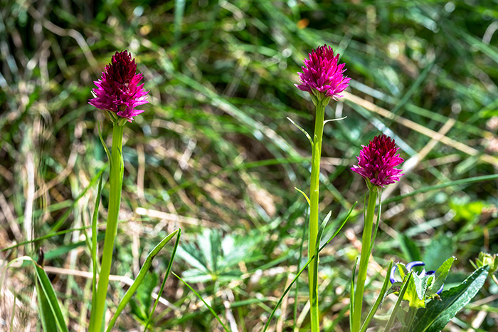
[[302, 73], [297, 73], [302, 84], [295, 84], [296, 87], [312, 94], [316, 90], [334, 100], [342, 97], [339, 93], [348, 87], [351, 78], [343, 75], [346, 71], [344, 63], [337, 66], [339, 54], [334, 56], [332, 47], [325, 44], [308, 56], [309, 59], [304, 59]]

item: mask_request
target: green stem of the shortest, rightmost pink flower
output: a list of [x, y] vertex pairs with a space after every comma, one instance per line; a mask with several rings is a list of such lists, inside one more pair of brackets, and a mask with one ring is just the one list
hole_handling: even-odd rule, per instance
[[[375, 206], [378, 198], [378, 188], [369, 186], [369, 203], [366, 207], [365, 225], [363, 237], [361, 238], [360, 266], [358, 269], [358, 279], [356, 290], [354, 291], [354, 316], [351, 332], [359, 332], [361, 327], [361, 307], [363, 305], [363, 292], [365, 288], [366, 269], [369, 266], [370, 247], [373, 229], [373, 217], [375, 217]], [[380, 212], [379, 212], [380, 213]]]

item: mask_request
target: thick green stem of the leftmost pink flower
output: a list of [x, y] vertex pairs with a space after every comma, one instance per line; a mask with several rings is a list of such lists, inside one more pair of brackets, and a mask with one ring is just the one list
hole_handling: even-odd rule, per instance
[[95, 308], [92, 308], [92, 315], [90, 317], [90, 332], [101, 331], [107, 286], [109, 286], [112, 250], [114, 249], [114, 240], [117, 234], [117, 217], [120, 213], [121, 189], [123, 183], [124, 167], [121, 154], [123, 130], [124, 125], [120, 125], [120, 121], [115, 121], [114, 127], [112, 128], [109, 209], [107, 211], [104, 251], [102, 252], [102, 264], [100, 267], [99, 282], [97, 284], [97, 294], [93, 294], [93, 296], [97, 296], [97, 298], [95, 301]]

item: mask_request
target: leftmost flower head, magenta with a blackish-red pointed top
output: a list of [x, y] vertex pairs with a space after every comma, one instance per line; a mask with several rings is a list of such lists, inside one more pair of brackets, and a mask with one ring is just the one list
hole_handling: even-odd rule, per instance
[[116, 113], [128, 122], [143, 113], [137, 106], [149, 103], [144, 84], [139, 85], [142, 73], [137, 74], [137, 63], [132, 54], [124, 50], [112, 56], [111, 63], [105, 66], [102, 77], [95, 81], [97, 88], [92, 90], [94, 98], [88, 100], [90, 105]]

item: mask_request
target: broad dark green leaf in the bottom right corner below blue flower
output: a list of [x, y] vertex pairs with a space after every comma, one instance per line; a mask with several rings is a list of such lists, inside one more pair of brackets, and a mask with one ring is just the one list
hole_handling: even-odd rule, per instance
[[482, 266], [462, 284], [441, 293], [441, 301], [432, 300], [415, 316], [412, 332], [437, 332], [443, 330], [451, 318], [466, 306], [480, 291], [486, 281], [489, 266]]

